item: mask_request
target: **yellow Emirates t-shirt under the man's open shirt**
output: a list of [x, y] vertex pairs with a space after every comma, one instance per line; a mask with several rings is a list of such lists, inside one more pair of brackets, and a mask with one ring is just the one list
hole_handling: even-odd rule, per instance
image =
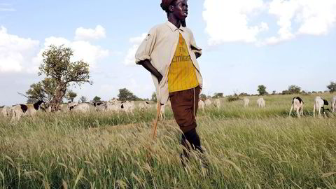
[[180, 34], [179, 44], [169, 68], [168, 90], [176, 92], [192, 89], [198, 85], [195, 66], [190, 59], [186, 41]]

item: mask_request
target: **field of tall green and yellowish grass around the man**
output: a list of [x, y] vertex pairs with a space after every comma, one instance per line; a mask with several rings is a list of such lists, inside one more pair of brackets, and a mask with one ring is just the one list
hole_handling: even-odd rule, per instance
[[[332, 94], [316, 94], [330, 101]], [[193, 152], [183, 168], [170, 107], [151, 139], [155, 109], [0, 117], [0, 188], [336, 188], [336, 117], [288, 117], [293, 95], [228, 102], [197, 113], [208, 167]], [[328, 106], [330, 109], [330, 106]]]

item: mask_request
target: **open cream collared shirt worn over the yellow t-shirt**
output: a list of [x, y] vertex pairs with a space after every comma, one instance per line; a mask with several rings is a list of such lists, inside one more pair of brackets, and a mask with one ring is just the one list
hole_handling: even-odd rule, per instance
[[160, 84], [158, 83], [158, 78], [153, 76], [153, 74], [152, 78], [156, 88], [158, 101], [162, 104], [166, 104], [169, 99], [168, 73], [178, 45], [177, 43], [179, 42], [180, 33], [188, 46], [190, 59], [196, 68], [197, 80], [200, 84], [200, 88], [202, 89], [203, 79], [200, 73], [200, 66], [195, 56], [195, 52], [202, 55], [202, 49], [197, 47], [193, 32], [188, 29], [188, 27], [181, 26], [180, 28], [177, 28], [169, 21], [161, 25], [156, 25], [149, 31], [135, 55], [135, 62], [137, 64], [145, 59], [148, 59], [155, 69], [161, 73], [162, 80]]

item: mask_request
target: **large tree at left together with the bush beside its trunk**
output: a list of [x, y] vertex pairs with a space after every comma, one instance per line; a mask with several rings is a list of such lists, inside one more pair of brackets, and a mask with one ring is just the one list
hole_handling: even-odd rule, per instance
[[71, 62], [73, 50], [63, 45], [50, 45], [42, 53], [43, 62], [39, 66], [38, 76], [45, 76], [41, 82], [31, 85], [26, 92], [29, 98], [46, 99], [52, 111], [57, 111], [69, 85], [90, 83], [89, 64], [83, 60]]

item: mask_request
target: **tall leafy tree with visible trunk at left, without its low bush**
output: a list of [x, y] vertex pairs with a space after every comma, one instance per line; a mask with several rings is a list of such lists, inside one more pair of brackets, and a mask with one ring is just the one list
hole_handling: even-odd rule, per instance
[[43, 62], [39, 66], [38, 76], [45, 75], [55, 84], [52, 99], [50, 100], [51, 111], [57, 111], [69, 85], [92, 84], [89, 64], [83, 60], [71, 62], [73, 50], [63, 45], [56, 47], [50, 45], [42, 53]]

